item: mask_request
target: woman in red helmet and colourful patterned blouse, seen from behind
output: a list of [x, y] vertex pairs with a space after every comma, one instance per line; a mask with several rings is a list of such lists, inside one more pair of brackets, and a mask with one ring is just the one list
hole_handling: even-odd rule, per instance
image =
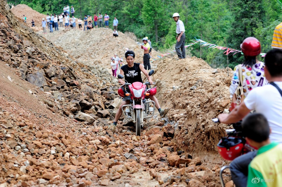
[[[264, 75], [264, 63], [259, 61], [256, 57], [261, 52], [259, 40], [254, 37], [248, 37], [243, 41], [240, 47], [245, 56], [245, 62], [243, 64], [239, 64], [242, 66], [243, 71], [243, 91], [245, 98], [252, 89], [258, 86], [264, 86], [268, 84], [268, 81], [265, 79]], [[231, 98], [238, 87], [239, 65], [235, 66], [234, 74], [231, 79]]]

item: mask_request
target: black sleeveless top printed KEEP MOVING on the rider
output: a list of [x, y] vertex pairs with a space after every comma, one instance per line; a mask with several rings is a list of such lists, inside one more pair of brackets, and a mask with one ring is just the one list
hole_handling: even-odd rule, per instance
[[129, 68], [128, 65], [121, 66], [121, 69], [124, 72], [124, 79], [128, 83], [134, 83], [134, 82], [142, 82], [141, 78], [141, 69], [139, 67], [140, 63], [134, 63], [132, 68]]

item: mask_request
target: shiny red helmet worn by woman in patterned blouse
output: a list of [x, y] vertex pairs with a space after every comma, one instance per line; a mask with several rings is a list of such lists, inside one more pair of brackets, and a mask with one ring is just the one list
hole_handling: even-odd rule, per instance
[[255, 57], [261, 52], [259, 40], [254, 37], [248, 37], [244, 39], [243, 43], [240, 45], [240, 48], [244, 55], [249, 57]]

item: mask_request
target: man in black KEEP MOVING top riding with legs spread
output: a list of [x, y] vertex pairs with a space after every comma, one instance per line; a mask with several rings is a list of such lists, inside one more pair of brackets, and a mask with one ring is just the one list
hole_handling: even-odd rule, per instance
[[[127, 64], [121, 66], [121, 71], [120, 74], [124, 76], [124, 79], [128, 83], [134, 83], [134, 82], [142, 82], [141, 78], [141, 71], [145, 74], [145, 76], [148, 78], [148, 82], [153, 84], [153, 81], [151, 80], [151, 77], [149, 76], [148, 72], [145, 70], [142, 64], [140, 63], [134, 63], [134, 58], [135, 58], [135, 53], [133, 51], [126, 51], [125, 52], [125, 59]], [[118, 82], [121, 83], [122, 85], [125, 84], [125, 81], [122, 79], [118, 79]], [[149, 96], [149, 98], [155, 102], [156, 108], [158, 109], [161, 118], [163, 118], [167, 112], [168, 108], [161, 109], [161, 106], [159, 104], [158, 99], [155, 96]], [[121, 106], [119, 106], [117, 113], [115, 114], [115, 119], [113, 121], [113, 124], [111, 124], [108, 129], [111, 130], [112, 132], [115, 132], [115, 126], [117, 125], [118, 119], [121, 117], [122, 114], [122, 106], [123, 105], [128, 105], [130, 103], [130, 96], [126, 96], [123, 98], [121, 102]]]

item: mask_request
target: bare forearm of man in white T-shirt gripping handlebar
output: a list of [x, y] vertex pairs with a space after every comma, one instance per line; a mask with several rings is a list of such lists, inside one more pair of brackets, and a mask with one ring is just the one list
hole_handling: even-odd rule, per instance
[[232, 124], [243, 119], [250, 111], [251, 110], [249, 110], [243, 102], [235, 107], [229, 114], [220, 114], [218, 119], [221, 123]]

